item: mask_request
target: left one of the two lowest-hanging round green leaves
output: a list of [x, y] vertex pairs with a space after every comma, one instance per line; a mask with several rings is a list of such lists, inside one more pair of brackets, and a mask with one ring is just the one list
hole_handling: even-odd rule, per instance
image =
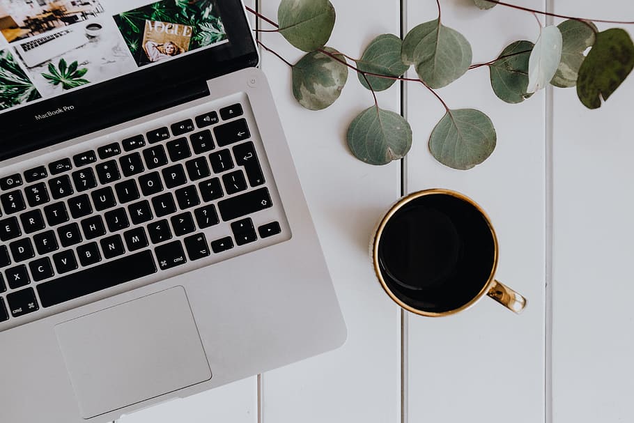
[[363, 162], [387, 164], [410, 151], [412, 128], [400, 114], [373, 106], [350, 123], [348, 146]]

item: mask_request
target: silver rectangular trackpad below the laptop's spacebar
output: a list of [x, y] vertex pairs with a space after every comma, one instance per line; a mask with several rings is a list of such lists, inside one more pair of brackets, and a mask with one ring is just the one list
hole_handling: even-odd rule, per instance
[[55, 332], [84, 419], [211, 378], [182, 286], [60, 323]]

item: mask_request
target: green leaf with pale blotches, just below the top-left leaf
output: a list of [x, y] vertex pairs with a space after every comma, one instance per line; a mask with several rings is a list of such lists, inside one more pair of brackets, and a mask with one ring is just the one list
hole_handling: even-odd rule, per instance
[[[330, 47], [326, 52], [346, 59]], [[348, 80], [348, 67], [322, 52], [310, 52], [293, 65], [293, 95], [300, 105], [310, 110], [321, 110], [339, 98]]]

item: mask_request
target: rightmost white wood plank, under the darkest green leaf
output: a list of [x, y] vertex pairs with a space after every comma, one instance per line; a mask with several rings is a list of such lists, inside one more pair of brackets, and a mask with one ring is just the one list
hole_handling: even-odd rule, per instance
[[[555, 11], [634, 20], [634, 3], [555, 0]], [[600, 30], [634, 26], [597, 24]], [[553, 422], [634, 415], [631, 298], [634, 201], [630, 75], [598, 110], [555, 91], [553, 137]]]

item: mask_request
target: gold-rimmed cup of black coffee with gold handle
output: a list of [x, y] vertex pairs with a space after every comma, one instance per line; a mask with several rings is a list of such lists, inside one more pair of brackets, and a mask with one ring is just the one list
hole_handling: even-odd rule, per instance
[[389, 209], [374, 234], [376, 275], [398, 305], [422, 316], [447, 316], [488, 295], [513, 312], [522, 295], [495, 280], [497, 237], [472, 199], [425, 190]]

